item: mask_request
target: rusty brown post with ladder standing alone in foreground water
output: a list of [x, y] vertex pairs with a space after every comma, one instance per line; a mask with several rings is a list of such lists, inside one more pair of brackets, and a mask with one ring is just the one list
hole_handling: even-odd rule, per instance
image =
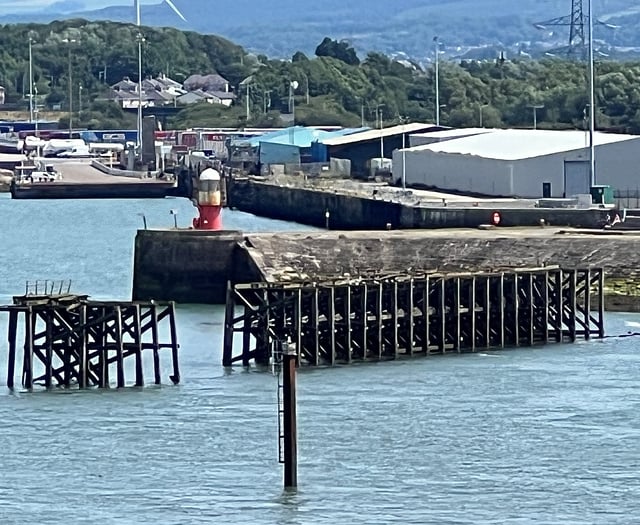
[[298, 436], [296, 428], [296, 362], [298, 352], [291, 343], [282, 344], [282, 397], [284, 437], [284, 487], [298, 486]]

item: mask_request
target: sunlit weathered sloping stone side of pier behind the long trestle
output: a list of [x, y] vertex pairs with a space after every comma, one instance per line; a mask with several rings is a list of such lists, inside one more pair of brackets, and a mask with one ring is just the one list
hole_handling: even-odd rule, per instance
[[640, 275], [640, 235], [561, 231], [496, 228], [251, 234], [246, 236], [245, 249], [272, 281], [555, 264], [602, 267], [614, 278]]

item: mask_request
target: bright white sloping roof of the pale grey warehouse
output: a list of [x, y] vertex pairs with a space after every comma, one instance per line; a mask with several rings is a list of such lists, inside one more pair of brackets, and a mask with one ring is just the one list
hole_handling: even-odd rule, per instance
[[[596, 146], [633, 139], [640, 139], [640, 136], [613, 133], [594, 135]], [[410, 151], [434, 151], [487, 159], [520, 160], [579, 150], [587, 146], [588, 136], [584, 131], [504, 129], [416, 146], [410, 148]]]

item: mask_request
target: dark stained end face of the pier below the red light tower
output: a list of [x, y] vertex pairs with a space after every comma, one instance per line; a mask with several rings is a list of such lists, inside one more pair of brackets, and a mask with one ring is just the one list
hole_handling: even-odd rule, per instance
[[235, 231], [138, 231], [133, 300], [224, 303], [227, 282], [235, 279], [234, 257], [241, 241], [242, 234]]

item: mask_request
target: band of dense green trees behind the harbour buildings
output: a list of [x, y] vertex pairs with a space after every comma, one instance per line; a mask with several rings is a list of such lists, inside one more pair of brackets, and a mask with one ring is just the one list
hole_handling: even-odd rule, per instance
[[[137, 79], [139, 28], [113, 22], [72, 20], [48, 25], [0, 26], [0, 85], [7, 102], [28, 105], [28, 42], [38, 103], [68, 106], [82, 93], [74, 122], [89, 128], [135, 122], [105, 98], [109, 85]], [[297, 52], [289, 60], [247, 53], [213, 35], [170, 28], [141, 28], [143, 75], [183, 81], [191, 74], [219, 73], [238, 100], [225, 108], [185, 106], [170, 122], [193, 126], [301, 125], [378, 126], [433, 122], [434, 64], [396, 60], [378, 52], [359, 57], [348, 42], [325, 38], [314, 56]], [[640, 133], [640, 63], [598, 60], [598, 129]], [[71, 82], [69, 81], [71, 72]], [[80, 88], [82, 86], [82, 88]], [[71, 89], [69, 89], [71, 88]], [[441, 61], [440, 121], [452, 127], [583, 129], [589, 112], [588, 68], [581, 61]], [[295, 117], [294, 117], [295, 116]], [[133, 120], [131, 120], [133, 119]]]

